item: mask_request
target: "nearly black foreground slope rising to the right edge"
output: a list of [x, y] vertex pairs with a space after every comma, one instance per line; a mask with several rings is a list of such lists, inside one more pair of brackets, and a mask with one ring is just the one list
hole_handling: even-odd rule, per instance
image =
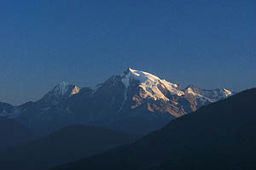
[[134, 144], [57, 169], [255, 169], [256, 88], [203, 106]]

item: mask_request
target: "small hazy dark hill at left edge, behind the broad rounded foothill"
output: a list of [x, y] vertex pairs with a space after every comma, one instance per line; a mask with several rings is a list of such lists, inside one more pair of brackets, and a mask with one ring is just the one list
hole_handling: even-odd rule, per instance
[[0, 117], [0, 150], [32, 140], [34, 135], [27, 127], [7, 118]]

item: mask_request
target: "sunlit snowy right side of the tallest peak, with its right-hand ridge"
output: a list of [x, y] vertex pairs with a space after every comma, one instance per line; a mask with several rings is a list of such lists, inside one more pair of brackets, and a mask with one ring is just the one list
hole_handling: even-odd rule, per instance
[[[118, 79], [119, 76], [116, 76], [115, 81]], [[144, 105], [148, 111], [167, 112], [174, 117], [183, 116], [197, 110], [202, 105], [225, 99], [234, 94], [225, 88], [205, 90], [193, 85], [181, 88], [179, 85], [167, 82], [153, 74], [131, 68], [125, 71], [120, 79], [125, 86], [123, 105], [125, 105], [125, 100], [131, 99], [130, 103], [135, 103], [135, 105], [131, 105], [132, 108]], [[136, 88], [137, 91], [132, 92]]]

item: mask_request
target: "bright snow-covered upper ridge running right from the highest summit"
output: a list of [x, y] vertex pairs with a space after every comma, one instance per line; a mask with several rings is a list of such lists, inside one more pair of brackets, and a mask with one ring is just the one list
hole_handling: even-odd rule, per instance
[[200, 98], [207, 100], [209, 102], [217, 101], [218, 99], [224, 99], [233, 93], [230, 90], [225, 88], [216, 89], [216, 90], [202, 90], [200, 88], [178, 88], [178, 85], [172, 82], [167, 82], [165, 79], [160, 79], [159, 77], [154, 76], [145, 71], [137, 71], [134, 69], [127, 69], [125, 74], [122, 76], [122, 82], [124, 83], [125, 88], [128, 88], [131, 80], [136, 79], [139, 81], [139, 87], [143, 88], [145, 94], [143, 94], [143, 98], [151, 97], [153, 99], [164, 99], [168, 101], [169, 99], [163, 93], [168, 91], [172, 95], [182, 96], [185, 93], [192, 94], [195, 98]]

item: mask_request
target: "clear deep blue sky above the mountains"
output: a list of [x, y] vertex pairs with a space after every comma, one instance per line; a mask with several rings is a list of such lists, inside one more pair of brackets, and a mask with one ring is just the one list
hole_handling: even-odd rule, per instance
[[256, 1], [1, 1], [1, 101], [37, 100], [63, 81], [93, 86], [128, 67], [183, 87], [256, 87]]

